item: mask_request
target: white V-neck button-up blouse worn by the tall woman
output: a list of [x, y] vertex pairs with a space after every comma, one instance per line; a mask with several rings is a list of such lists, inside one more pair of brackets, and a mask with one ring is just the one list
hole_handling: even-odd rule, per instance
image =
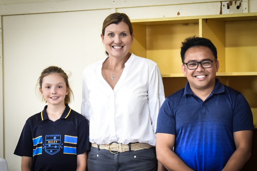
[[131, 54], [112, 90], [101, 73], [103, 62], [83, 71], [81, 114], [89, 121], [90, 142], [155, 146], [157, 116], [165, 100], [157, 64]]

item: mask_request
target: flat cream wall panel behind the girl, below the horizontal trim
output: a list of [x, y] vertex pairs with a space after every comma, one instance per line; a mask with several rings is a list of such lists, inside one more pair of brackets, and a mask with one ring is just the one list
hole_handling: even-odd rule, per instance
[[[4, 144], [10, 170], [19, 170], [21, 157], [12, 155], [26, 119], [44, 103], [35, 95], [41, 71], [57, 65], [72, 73], [70, 86], [80, 112], [82, 71], [103, 59], [101, 23], [110, 10], [3, 17]], [[94, 16], [93, 18], [89, 16]]]

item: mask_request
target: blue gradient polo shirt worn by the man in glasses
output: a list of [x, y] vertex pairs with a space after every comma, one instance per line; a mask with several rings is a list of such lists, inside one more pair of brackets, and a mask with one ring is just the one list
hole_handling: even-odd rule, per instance
[[219, 82], [202, 101], [189, 83], [168, 96], [160, 108], [156, 133], [174, 134], [176, 153], [197, 171], [220, 171], [236, 150], [233, 132], [253, 130], [244, 96]]

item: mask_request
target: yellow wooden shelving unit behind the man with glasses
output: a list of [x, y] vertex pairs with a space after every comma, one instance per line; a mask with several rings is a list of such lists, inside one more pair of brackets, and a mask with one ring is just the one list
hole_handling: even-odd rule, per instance
[[217, 78], [242, 92], [254, 116], [257, 115], [257, 13], [150, 18], [131, 22], [135, 36], [131, 52], [157, 62], [166, 96], [185, 87], [187, 82], [181, 71], [181, 42], [193, 35], [206, 37], [218, 51]]

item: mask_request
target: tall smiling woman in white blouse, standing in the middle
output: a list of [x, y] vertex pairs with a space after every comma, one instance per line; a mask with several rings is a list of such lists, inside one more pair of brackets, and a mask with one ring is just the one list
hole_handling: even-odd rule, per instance
[[157, 64], [129, 53], [129, 17], [113, 13], [101, 34], [106, 59], [83, 71], [81, 113], [89, 121], [89, 171], [157, 170], [155, 130], [165, 100]]

